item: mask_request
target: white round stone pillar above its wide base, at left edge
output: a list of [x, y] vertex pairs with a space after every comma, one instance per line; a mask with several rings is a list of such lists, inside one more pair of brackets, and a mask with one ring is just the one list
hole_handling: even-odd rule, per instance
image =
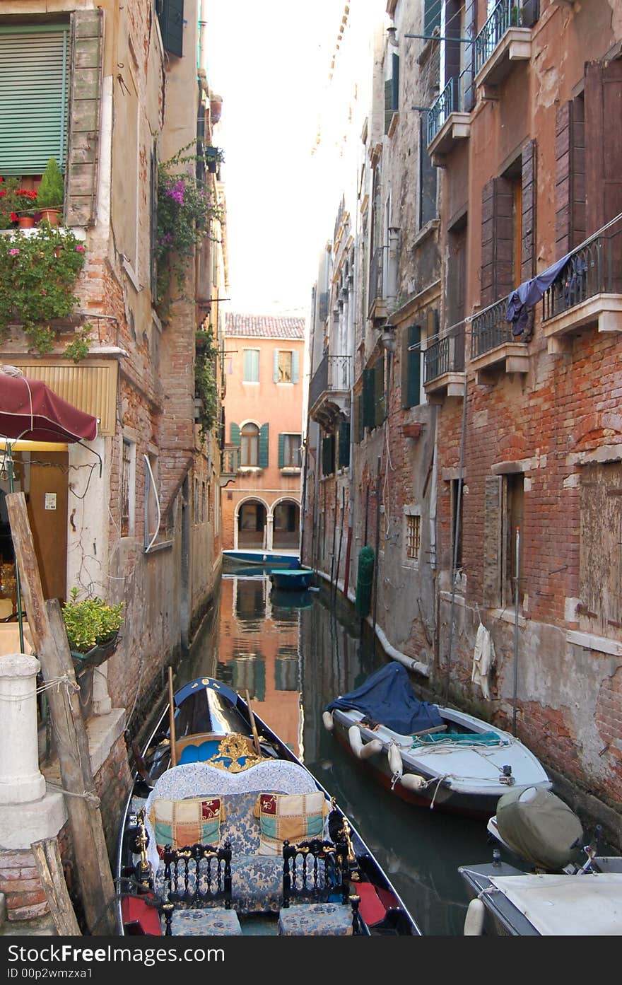
[[36, 657], [0, 657], [0, 804], [29, 804], [45, 793], [36, 739]]

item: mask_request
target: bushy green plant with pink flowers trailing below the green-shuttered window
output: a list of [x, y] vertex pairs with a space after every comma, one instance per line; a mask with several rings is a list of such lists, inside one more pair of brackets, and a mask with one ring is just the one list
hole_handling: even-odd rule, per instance
[[56, 332], [49, 322], [67, 318], [78, 302], [73, 292], [85, 249], [73, 232], [49, 226], [0, 236], [0, 339], [19, 324], [30, 350], [53, 349]]

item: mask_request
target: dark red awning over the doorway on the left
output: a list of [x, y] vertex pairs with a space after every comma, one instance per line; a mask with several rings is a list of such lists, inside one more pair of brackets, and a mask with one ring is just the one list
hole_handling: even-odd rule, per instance
[[27, 441], [93, 441], [97, 419], [40, 379], [0, 370], [0, 436]]

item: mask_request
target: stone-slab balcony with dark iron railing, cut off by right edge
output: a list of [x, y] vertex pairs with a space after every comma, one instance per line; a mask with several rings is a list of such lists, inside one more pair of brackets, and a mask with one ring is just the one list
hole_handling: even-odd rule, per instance
[[594, 236], [568, 258], [542, 296], [549, 353], [566, 352], [569, 336], [596, 327], [622, 332], [622, 228]]

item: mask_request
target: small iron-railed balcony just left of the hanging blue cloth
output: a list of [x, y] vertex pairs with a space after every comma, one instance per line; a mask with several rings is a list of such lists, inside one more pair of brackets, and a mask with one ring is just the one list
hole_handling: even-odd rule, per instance
[[500, 372], [527, 372], [528, 346], [516, 342], [506, 319], [507, 297], [475, 315], [470, 325], [470, 365], [477, 383], [494, 382]]

